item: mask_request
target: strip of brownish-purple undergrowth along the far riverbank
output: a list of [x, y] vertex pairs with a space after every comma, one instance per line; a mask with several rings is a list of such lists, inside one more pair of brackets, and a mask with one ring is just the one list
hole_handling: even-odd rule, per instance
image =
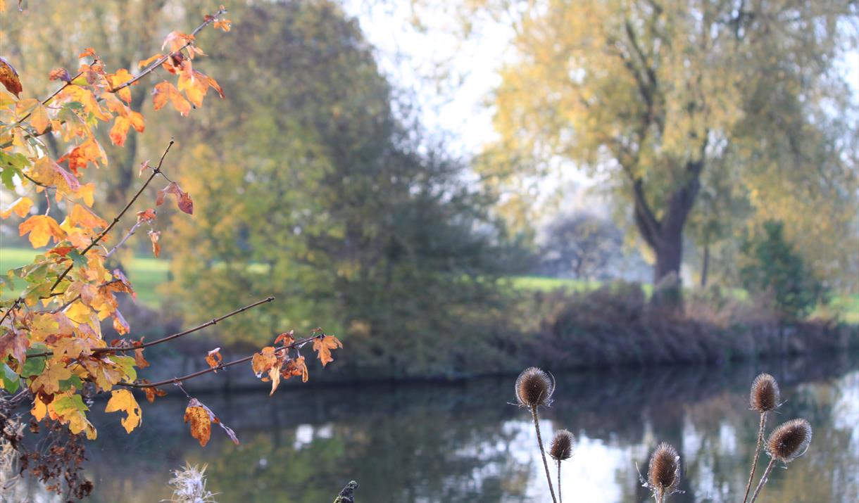
[[[746, 303], [719, 304], [712, 299], [691, 298], [682, 310], [652, 306], [641, 288], [626, 284], [590, 292], [535, 293], [511, 303], [511, 312], [482, 334], [462, 336], [459, 345], [443, 347], [444, 366], [434, 372], [417, 372], [403, 366], [387, 366], [373, 355], [375, 344], [386, 335], [363, 338], [342, 334], [344, 349], [323, 369], [309, 366], [313, 383], [372, 381], [453, 381], [493, 374], [518, 373], [540, 366], [562, 372], [603, 367], [648, 367], [668, 364], [725, 364], [788, 355], [816, 355], [859, 351], [859, 326], [822, 319], [793, 323]], [[135, 318], [151, 318], [145, 310]], [[148, 339], [180, 331], [169, 323], [161, 330], [135, 319], [132, 326], [147, 326]], [[156, 381], [193, 373], [206, 364], [208, 350], [219, 345], [216, 329], [201, 336], [182, 338], [175, 344], [150, 348], [153, 366], [141, 372]], [[340, 334], [338, 334], [340, 335]], [[408, 333], [397, 335], [407, 347]], [[372, 342], [371, 345], [370, 343]], [[412, 341], [425, 344], [425, 341]], [[249, 355], [252, 347], [222, 348], [224, 361]], [[405, 355], [408, 357], [408, 354]], [[308, 359], [309, 360], [309, 359]], [[417, 368], [417, 366], [415, 367]], [[292, 383], [287, 382], [285, 385]], [[268, 386], [250, 367], [238, 366], [216, 375], [189, 381], [194, 391], [247, 390]]]

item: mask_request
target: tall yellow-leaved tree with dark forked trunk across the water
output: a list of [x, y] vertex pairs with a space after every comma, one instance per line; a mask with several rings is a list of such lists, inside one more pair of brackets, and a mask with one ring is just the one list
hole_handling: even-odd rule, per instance
[[515, 33], [495, 94], [497, 151], [538, 160], [520, 176], [562, 161], [610, 180], [655, 256], [655, 281], [679, 274], [703, 185], [740, 187], [752, 207], [777, 187], [768, 203], [790, 201], [788, 214], [831, 192], [855, 203], [851, 155], [838, 146], [849, 132], [831, 129], [850, 96], [834, 69], [855, 43], [855, 4], [477, 4]]

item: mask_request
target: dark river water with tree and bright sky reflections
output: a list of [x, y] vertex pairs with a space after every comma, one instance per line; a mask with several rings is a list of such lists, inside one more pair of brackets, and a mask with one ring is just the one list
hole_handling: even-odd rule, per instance
[[[844, 355], [557, 375], [541, 429], [551, 437], [568, 428], [579, 442], [563, 466], [564, 500], [647, 501], [636, 464], [646, 470], [667, 441], [682, 458], [685, 491], [669, 501], [738, 502], [758, 427], [748, 387], [759, 372], [776, 376], [787, 400], [769, 426], [804, 417], [814, 435], [758, 501], [859, 501], [859, 361]], [[187, 460], [209, 465], [220, 503], [327, 503], [350, 479], [362, 503], [549, 501], [530, 417], [508, 404], [514, 380], [200, 395], [241, 439], [233, 445], [214, 428], [205, 448], [182, 423], [185, 399], [141, 397], [143, 428], [131, 435], [119, 415], [94, 414], [92, 500], [168, 498], [169, 470]]]

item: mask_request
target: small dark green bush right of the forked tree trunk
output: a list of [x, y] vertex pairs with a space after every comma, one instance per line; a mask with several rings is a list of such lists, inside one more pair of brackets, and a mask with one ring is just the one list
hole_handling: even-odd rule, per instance
[[744, 286], [770, 295], [774, 306], [789, 318], [802, 318], [825, 300], [825, 288], [785, 239], [782, 222], [767, 221], [761, 230], [743, 245]]

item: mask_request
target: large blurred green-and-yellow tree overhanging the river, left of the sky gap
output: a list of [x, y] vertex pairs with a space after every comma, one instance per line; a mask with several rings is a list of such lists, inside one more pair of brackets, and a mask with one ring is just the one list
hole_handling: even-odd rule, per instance
[[[235, 98], [179, 136], [198, 145], [181, 153], [197, 218], [177, 218], [170, 237], [172, 294], [188, 316], [287, 298], [219, 325], [224, 342], [322, 324], [356, 351], [335, 372], [367, 377], [454, 375], [476, 352], [497, 361], [505, 236], [466, 166], [424, 136], [336, 3], [234, 14], [237, 50], [212, 57]], [[456, 343], [464, 331], [471, 348]]]

